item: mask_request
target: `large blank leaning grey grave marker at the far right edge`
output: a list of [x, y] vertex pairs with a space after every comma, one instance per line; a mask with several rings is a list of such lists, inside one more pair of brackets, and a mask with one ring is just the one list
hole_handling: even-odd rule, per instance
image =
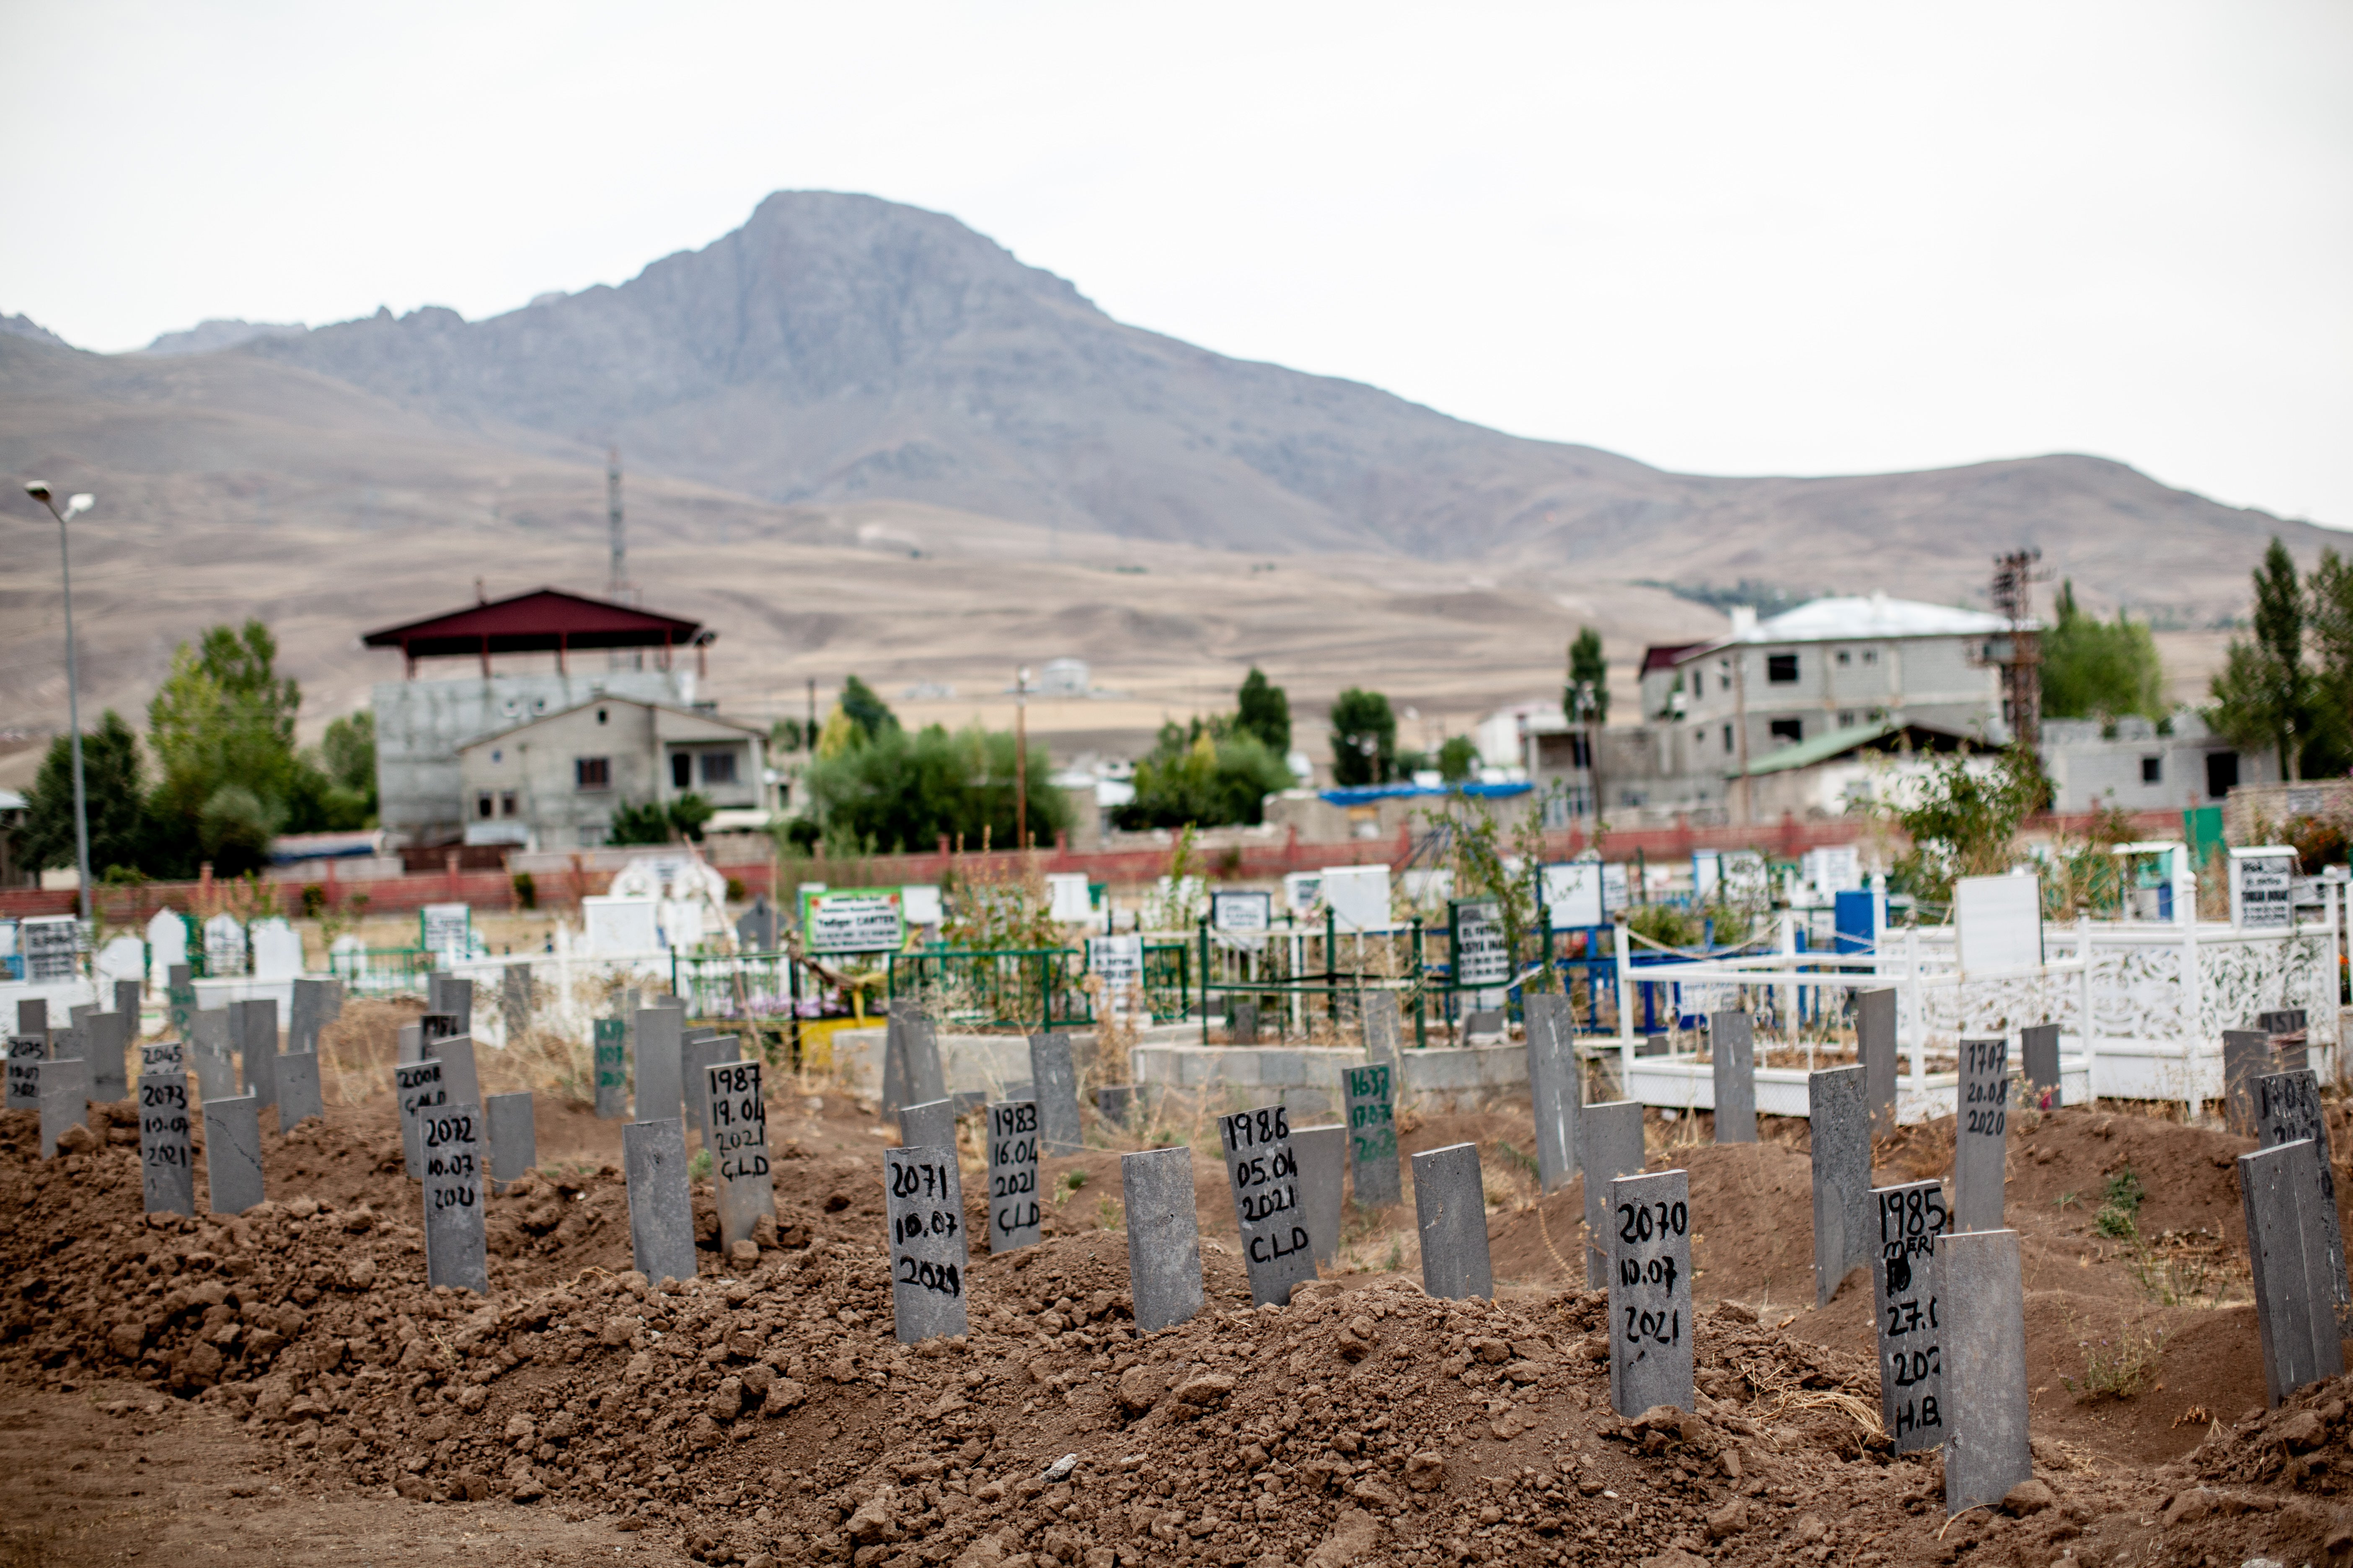
[[2238, 1197], [2254, 1269], [2254, 1321], [2264, 1342], [2264, 1387], [2273, 1406], [2344, 1371], [2334, 1324], [2327, 1229], [2320, 1220], [2320, 1145], [2301, 1138], [2238, 1157]]

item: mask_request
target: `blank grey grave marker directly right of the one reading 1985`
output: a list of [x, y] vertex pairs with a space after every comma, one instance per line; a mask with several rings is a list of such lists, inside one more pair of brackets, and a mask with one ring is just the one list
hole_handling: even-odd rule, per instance
[[1937, 1239], [1944, 1316], [1944, 1512], [1988, 1507], [2035, 1479], [2026, 1448], [2026, 1293], [2019, 1232]]

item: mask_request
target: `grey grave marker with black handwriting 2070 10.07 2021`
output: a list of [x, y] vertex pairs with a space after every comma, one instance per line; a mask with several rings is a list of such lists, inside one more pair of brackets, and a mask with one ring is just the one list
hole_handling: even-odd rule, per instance
[[1692, 1408], [1692, 1175], [1609, 1182], [1609, 1408]]

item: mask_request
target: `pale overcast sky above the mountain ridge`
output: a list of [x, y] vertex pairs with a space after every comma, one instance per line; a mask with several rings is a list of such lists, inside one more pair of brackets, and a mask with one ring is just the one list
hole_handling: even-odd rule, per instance
[[2094, 451], [2353, 527], [2353, 5], [0, 0], [0, 313], [511, 310], [767, 190], [1699, 473]]

